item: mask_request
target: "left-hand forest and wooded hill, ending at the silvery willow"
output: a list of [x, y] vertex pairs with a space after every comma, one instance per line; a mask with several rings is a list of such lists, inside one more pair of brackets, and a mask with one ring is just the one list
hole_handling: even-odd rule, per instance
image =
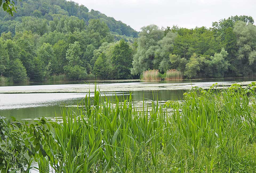
[[[100, 79], [131, 78], [130, 45], [137, 36], [131, 27], [72, 1], [23, 0], [14, 7], [19, 10], [13, 16], [0, 11], [1, 76], [13, 82], [44, 81], [60, 74], [68, 80], [93, 74]], [[124, 65], [127, 62], [130, 65]]]

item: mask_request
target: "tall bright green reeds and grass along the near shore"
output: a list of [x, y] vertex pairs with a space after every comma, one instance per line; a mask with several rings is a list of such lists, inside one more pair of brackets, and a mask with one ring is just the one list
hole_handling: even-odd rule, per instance
[[255, 172], [255, 83], [214, 87], [142, 108], [131, 94], [111, 102], [95, 88], [51, 122], [50, 164], [56, 172]]

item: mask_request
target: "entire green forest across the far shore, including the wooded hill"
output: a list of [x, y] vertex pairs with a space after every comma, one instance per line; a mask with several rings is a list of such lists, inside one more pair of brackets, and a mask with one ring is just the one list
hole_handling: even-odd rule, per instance
[[[256, 70], [256, 27], [234, 16], [194, 29], [149, 25], [141, 32], [65, 0], [23, 0], [0, 10], [2, 82], [132, 79], [176, 69], [186, 78], [244, 77]], [[63, 78], [61, 78], [63, 77]]]

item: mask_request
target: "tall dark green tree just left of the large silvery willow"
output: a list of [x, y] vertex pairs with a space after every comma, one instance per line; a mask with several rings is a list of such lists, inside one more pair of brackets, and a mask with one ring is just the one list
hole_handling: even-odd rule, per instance
[[111, 57], [113, 63], [113, 73], [115, 79], [130, 79], [130, 69], [132, 67], [132, 49], [125, 40], [120, 40], [119, 44], [114, 46]]

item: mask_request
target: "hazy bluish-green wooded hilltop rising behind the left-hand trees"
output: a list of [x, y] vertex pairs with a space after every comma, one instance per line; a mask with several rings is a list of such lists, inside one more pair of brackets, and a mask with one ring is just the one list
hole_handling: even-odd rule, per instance
[[[117, 21], [113, 17], [107, 17], [105, 14], [93, 9], [89, 12], [87, 7], [78, 5], [78, 3], [73, 1], [23, 0], [22, 2], [17, 1], [16, 6], [18, 13], [14, 13], [14, 17], [11, 17], [2, 10], [0, 11], [1, 19], [5, 21], [5, 23], [1, 22], [0, 24], [0, 33], [8, 32], [9, 30], [14, 32], [14, 23], [21, 21], [22, 17], [26, 16], [38, 17], [40, 19], [46, 19], [47, 21], [53, 21], [56, 17], [61, 16], [75, 16], [82, 19], [86, 25], [89, 24], [90, 19], [99, 19], [107, 24], [113, 34], [138, 37], [138, 32], [125, 23]], [[5, 26], [9, 24], [11, 26]]]

